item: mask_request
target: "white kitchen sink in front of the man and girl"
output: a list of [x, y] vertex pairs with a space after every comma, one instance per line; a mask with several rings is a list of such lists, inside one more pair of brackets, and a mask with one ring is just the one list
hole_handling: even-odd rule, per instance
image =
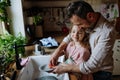
[[[17, 80], [38, 80], [41, 77], [53, 76], [58, 80], [69, 80], [68, 73], [61, 75], [49, 73], [48, 69], [50, 55], [30, 56], [26, 66], [20, 71]], [[58, 62], [63, 62], [64, 56], [58, 59]], [[49, 80], [49, 79], [48, 79]]]

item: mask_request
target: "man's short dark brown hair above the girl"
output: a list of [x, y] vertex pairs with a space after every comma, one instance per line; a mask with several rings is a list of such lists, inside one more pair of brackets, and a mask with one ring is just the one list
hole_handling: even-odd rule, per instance
[[72, 15], [77, 15], [80, 18], [86, 19], [87, 13], [94, 12], [90, 4], [85, 1], [79, 0], [69, 3], [67, 6], [67, 17], [71, 18]]

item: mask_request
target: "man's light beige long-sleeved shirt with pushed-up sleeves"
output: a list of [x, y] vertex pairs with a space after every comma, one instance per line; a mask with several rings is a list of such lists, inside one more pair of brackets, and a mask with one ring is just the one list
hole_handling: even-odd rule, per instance
[[[84, 74], [97, 71], [113, 71], [113, 45], [115, 42], [116, 31], [112, 23], [100, 16], [95, 28], [90, 31], [89, 43], [91, 56], [88, 61], [79, 65], [80, 71]], [[70, 35], [63, 39], [69, 43]]]

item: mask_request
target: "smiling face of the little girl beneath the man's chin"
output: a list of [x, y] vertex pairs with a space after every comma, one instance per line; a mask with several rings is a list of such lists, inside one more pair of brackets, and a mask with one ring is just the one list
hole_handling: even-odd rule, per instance
[[85, 31], [79, 26], [74, 25], [71, 30], [71, 38], [75, 42], [80, 42], [85, 35]]

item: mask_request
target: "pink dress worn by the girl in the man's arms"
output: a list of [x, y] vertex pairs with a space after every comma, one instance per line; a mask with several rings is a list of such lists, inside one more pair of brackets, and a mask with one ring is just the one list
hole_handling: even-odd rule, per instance
[[[66, 48], [66, 55], [68, 58], [72, 58], [74, 63], [79, 65], [83, 61], [87, 61], [90, 57], [90, 51], [84, 47], [75, 46], [74, 42], [70, 42]], [[93, 80], [92, 74], [82, 74], [80, 80]]]

